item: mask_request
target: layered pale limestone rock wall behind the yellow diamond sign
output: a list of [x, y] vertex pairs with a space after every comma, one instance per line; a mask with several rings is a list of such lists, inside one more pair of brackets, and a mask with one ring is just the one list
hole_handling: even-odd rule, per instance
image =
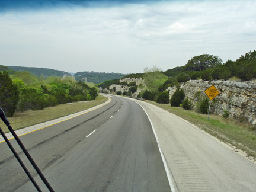
[[[190, 80], [181, 85], [181, 88], [195, 105], [200, 97], [206, 97], [204, 91], [211, 85], [215, 85], [220, 92], [220, 95], [212, 100], [211, 113], [222, 115], [226, 110], [231, 118], [246, 119], [256, 124], [256, 81]], [[168, 88], [170, 97], [176, 89]]]

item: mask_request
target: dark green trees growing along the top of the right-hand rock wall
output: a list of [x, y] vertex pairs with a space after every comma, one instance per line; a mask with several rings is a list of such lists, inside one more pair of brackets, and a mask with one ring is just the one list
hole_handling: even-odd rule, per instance
[[218, 56], [209, 54], [194, 56], [185, 66], [169, 69], [164, 74], [178, 82], [189, 79], [226, 80], [232, 77], [248, 81], [256, 78], [256, 51], [245, 53], [236, 61], [228, 60], [226, 63]]

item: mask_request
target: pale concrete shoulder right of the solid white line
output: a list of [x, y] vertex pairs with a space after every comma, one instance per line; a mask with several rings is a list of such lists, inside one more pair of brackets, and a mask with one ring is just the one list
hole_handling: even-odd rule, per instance
[[175, 191], [256, 191], [255, 164], [188, 121], [134, 101], [152, 121]]

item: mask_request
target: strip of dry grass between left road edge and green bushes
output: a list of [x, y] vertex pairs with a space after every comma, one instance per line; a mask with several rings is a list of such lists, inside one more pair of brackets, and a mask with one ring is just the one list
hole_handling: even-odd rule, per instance
[[[55, 107], [47, 107], [43, 110], [24, 111], [23, 113], [15, 113], [14, 116], [8, 117], [9, 122], [14, 130], [32, 126], [34, 124], [43, 123], [59, 117], [67, 116], [79, 111], [87, 110], [107, 101], [106, 97], [99, 95], [96, 100], [76, 102], [72, 104], [57, 105]], [[7, 126], [1, 121], [0, 127], [4, 132], [8, 132]]]

